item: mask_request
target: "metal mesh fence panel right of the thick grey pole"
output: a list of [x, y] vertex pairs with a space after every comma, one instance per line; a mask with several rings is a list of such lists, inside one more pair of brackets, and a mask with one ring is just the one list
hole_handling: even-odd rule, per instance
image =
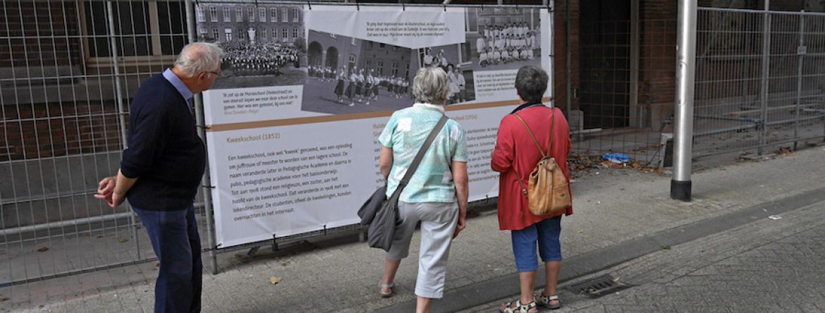
[[823, 18], [699, 9], [695, 156], [796, 149], [823, 137]]

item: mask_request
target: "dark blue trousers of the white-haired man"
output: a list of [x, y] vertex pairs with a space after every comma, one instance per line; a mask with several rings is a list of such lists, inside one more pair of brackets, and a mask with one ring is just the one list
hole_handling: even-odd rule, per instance
[[195, 206], [177, 211], [132, 209], [144, 223], [160, 262], [154, 311], [200, 312], [203, 263]]

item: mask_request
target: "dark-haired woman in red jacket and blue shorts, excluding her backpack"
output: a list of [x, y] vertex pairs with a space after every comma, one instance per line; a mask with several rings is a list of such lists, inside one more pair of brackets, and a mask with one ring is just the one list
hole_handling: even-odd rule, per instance
[[[554, 107], [545, 107], [541, 97], [547, 90], [547, 73], [535, 66], [524, 66], [516, 75], [516, 91], [521, 105], [504, 116], [498, 127], [496, 147], [493, 149], [493, 170], [501, 174], [498, 188], [498, 226], [501, 230], [511, 230], [513, 254], [521, 281], [521, 299], [516, 303], [502, 305], [502, 312], [537, 312], [537, 304], [549, 309], [561, 307], [556, 293], [556, 284], [561, 269], [561, 216], [573, 214], [573, 208], [550, 216], [535, 216], [527, 208], [527, 197], [521, 185], [527, 185], [527, 178], [542, 158], [530, 133], [519, 121], [521, 116], [542, 149], [547, 149], [550, 132], [550, 154], [561, 166], [568, 183], [570, 175], [567, 168], [567, 156], [570, 153], [570, 135], [567, 120], [562, 111]], [[553, 130], [550, 127], [554, 126]], [[521, 179], [521, 183], [519, 183]], [[535, 274], [538, 269], [536, 246], [544, 261], [547, 286], [540, 295], [533, 292]]]

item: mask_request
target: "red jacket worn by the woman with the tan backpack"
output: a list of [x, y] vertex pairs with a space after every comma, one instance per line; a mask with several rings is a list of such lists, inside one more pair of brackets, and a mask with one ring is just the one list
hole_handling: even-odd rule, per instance
[[[521, 116], [530, 126], [530, 130], [533, 130], [535, 138], [539, 140], [541, 147], [546, 152], [550, 137], [550, 125], [552, 124], [550, 116], [553, 111], [555, 112], [555, 130], [550, 154], [562, 168], [569, 183], [570, 173], [568, 173], [567, 156], [572, 146], [570, 145], [569, 126], [562, 111], [558, 108], [536, 106], [527, 107], [516, 112], [516, 114]], [[554, 216], [534, 216], [530, 213], [527, 208], [527, 197], [521, 193], [521, 186], [516, 180], [518, 175], [512, 167], [515, 165], [516, 170], [521, 174], [521, 182], [526, 187], [527, 176], [530, 175], [540, 159], [541, 153], [521, 121], [516, 116], [504, 116], [501, 125], [498, 126], [496, 148], [493, 149], [493, 160], [491, 162], [493, 170], [502, 173], [498, 181], [499, 229], [522, 230], [544, 219], [561, 216], [562, 214], [568, 216], [573, 214], [573, 207]], [[572, 195], [572, 193], [570, 194]]]

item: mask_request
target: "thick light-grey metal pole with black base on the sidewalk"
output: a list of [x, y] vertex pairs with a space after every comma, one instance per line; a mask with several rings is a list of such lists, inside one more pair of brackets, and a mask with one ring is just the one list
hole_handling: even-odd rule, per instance
[[671, 198], [691, 201], [693, 88], [696, 65], [696, 0], [679, 0], [676, 30], [676, 118]]

